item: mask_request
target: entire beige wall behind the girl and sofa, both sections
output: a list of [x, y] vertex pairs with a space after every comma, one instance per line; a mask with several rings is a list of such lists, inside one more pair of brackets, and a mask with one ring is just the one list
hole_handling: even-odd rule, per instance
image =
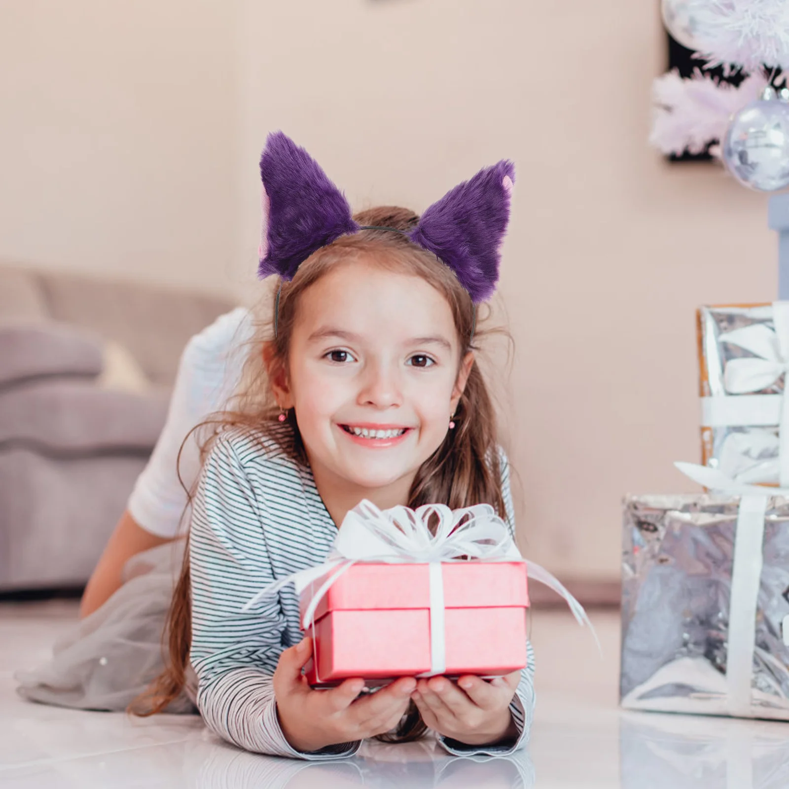
[[657, 2], [132, 5], [127, 28], [99, 2], [17, 4], [0, 255], [238, 289], [270, 129], [357, 207], [422, 209], [514, 159], [522, 536], [554, 570], [615, 578], [621, 495], [693, 489], [671, 462], [698, 456], [694, 308], [776, 291], [765, 197], [647, 147]]

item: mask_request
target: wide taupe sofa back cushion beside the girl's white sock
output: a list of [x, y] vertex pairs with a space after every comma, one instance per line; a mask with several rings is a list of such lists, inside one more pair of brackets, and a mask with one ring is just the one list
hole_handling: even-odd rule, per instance
[[234, 305], [228, 299], [136, 282], [40, 274], [55, 320], [88, 328], [121, 343], [152, 383], [171, 386], [192, 335]]

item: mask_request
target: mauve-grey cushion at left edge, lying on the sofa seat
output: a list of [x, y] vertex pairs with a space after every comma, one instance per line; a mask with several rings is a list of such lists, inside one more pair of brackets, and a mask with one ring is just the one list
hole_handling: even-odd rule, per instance
[[101, 338], [57, 323], [0, 323], [0, 387], [45, 376], [98, 376]]

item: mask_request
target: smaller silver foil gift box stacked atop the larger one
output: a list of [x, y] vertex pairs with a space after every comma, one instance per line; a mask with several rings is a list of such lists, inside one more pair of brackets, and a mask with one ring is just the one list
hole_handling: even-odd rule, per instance
[[[775, 333], [772, 304], [701, 307], [697, 312], [701, 462], [721, 469], [742, 483], [777, 484], [778, 401], [783, 394], [783, 376], [746, 394], [731, 394], [725, 380], [726, 368], [731, 361], [757, 357], [735, 342], [727, 342], [727, 337], [732, 336], [731, 332], [756, 325]], [[768, 414], [766, 419], [762, 413], [754, 421], [748, 413], [753, 395], [760, 396], [761, 405], [767, 406], [763, 409]], [[765, 395], [772, 395], [772, 398], [765, 398]], [[771, 411], [775, 412], [774, 418], [769, 416]], [[729, 418], [721, 419], [721, 413], [727, 413]], [[739, 413], [742, 415], [738, 416]], [[729, 424], [719, 424], [721, 421]]]

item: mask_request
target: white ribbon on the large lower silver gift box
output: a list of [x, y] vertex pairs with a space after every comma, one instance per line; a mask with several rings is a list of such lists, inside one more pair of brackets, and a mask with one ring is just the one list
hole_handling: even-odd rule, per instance
[[731, 568], [726, 685], [730, 715], [753, 717], [753, 652], [761, 581], [765, 511], [771, 495], [789, 495], [786, 488], [742, 484], [719, 469], [695, 463], [674, 464], [686, 477], [712, 491], [740, 496]]

